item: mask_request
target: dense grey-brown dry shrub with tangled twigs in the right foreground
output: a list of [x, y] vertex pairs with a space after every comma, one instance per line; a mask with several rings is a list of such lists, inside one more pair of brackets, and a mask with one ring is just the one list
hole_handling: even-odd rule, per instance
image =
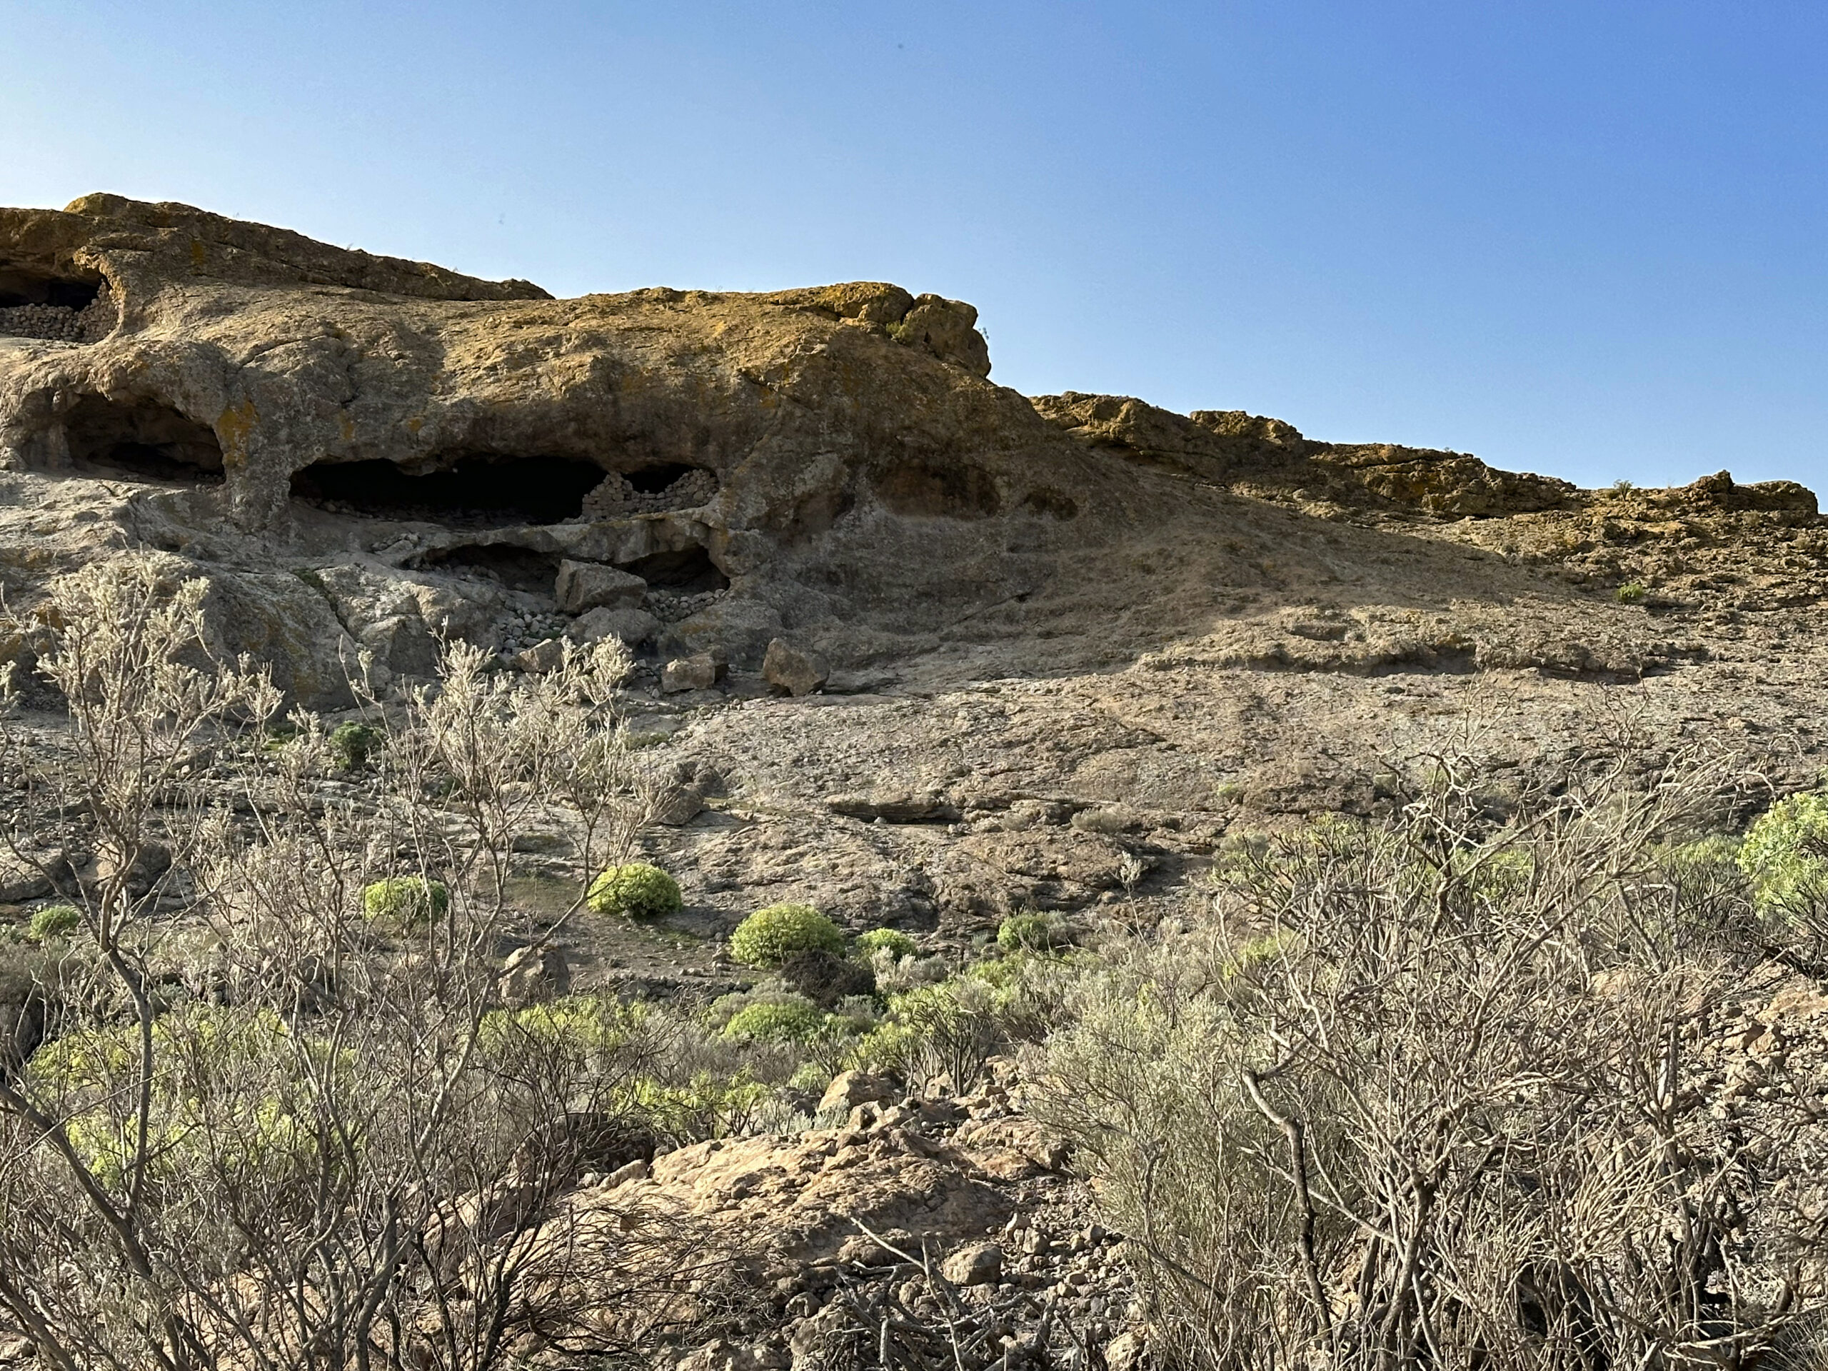
[[1704, 1051], [1770, 969], [1687, 846], [1733, 777], [1643, 762], [1495, 821], [1437, 759], [1389, 823], [1243, 852], [1208, 919], [1079, 982], [1044, 1111], [1164, 1360], [1808, 1364], [1828, 1080], [1749, 1093]]

